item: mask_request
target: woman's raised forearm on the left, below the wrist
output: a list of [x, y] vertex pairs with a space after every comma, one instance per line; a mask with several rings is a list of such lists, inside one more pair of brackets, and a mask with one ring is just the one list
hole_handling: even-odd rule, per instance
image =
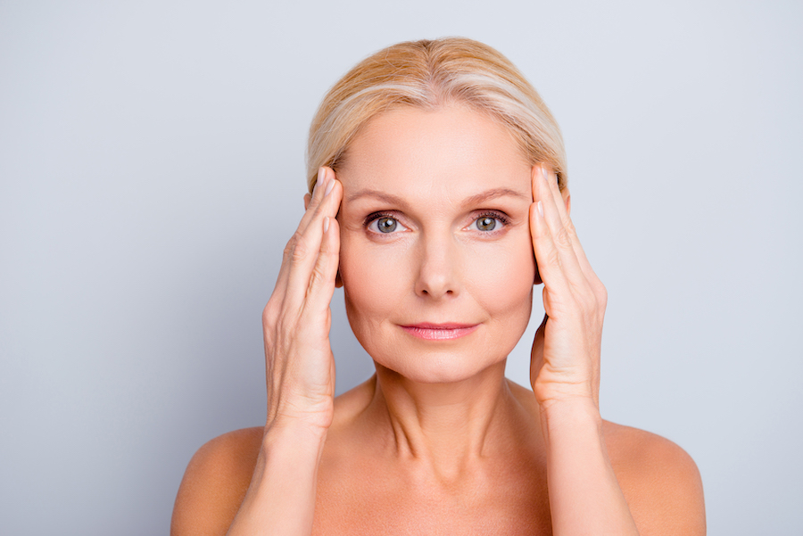
[[228, 536], [309, 536], [326, 433], [307, 427], [266, 431], [251, 485]]

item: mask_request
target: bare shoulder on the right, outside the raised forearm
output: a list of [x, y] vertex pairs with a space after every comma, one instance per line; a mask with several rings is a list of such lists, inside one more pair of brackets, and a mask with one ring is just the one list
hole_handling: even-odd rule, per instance
[[706, 533], [700, 471], [674, 442], [604, 422], [608, 456], [642, 536]]

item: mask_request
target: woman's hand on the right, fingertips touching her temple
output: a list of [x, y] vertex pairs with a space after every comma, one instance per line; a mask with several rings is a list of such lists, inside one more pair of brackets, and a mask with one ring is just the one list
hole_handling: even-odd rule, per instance
[[530, 232], [546, 315], [535, 332], [530, 383], [547, 408], [559, 400], [600, 405], [600, 345], [608, 293], [585, 258], [557, 177], [534, 166]]

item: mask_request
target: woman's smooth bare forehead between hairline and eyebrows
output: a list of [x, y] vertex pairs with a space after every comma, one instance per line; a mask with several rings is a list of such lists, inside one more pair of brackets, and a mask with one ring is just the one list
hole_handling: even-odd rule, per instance
[[509, 130], [461, 105], [378, 115], [352, 140], [337, 175], [346, 197], [364, 188], [440, 199], [498, 187], [530, 192], [530, 165]]

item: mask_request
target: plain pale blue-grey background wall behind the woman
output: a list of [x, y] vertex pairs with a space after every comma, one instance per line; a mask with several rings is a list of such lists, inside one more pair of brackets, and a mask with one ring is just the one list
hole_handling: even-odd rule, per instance
[[[168, 532], [195, 449], [263, 422], [320, 98], [464, 35], [565, 132], [603, 415], [691, 453], [709, 533], [800, 534], [801, 27], [791, 1], [0, 2], [3, 532]], [[338, 392], [371, 369], [342, 301]]]

